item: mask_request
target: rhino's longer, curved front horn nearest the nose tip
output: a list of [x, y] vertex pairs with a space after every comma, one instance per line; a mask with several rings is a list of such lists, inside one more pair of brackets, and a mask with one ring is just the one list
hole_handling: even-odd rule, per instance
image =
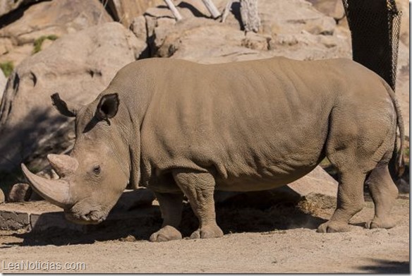
[[21, 164], [21, 169], [33, 190], [39, 193], [45, 200], [63, 209], [71, 204], [70, 195], [68, 193], [68, 181], [62, 179], [44, 179], [36, 174], [32, 174], [23, 163]]

